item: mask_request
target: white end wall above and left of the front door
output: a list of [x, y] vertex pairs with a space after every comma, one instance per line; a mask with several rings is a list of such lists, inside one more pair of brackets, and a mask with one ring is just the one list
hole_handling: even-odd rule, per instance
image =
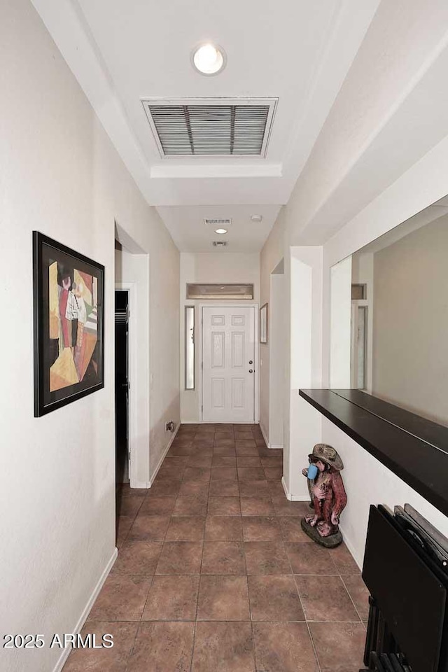
[[[183, 422], [198, 422], [200, 419], [199, 329], [201, 301], [186, 299], [188, 282], [253, 283], [254, 297], [251, 303], [260, 300], [260, 255], [259, 253], [200, 252], [181, 253], [181, 418]], [[248, 302], [248, 303], [250, 303]], [[216, 304], [216, 302], [214, 302]], [[223, 302], [232, 305], [232, 301]], [[244, 304], [244, 301], [241, 302]], [[195, 306], [195, 389], [185, 389], [185, 306]]]

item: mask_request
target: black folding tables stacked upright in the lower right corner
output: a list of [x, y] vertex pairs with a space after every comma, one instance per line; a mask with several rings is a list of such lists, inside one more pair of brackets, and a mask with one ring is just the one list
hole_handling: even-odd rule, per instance
[[363, 580], [367, 669], [448, 672], [448, 575], [381, 505], [370, 507]]

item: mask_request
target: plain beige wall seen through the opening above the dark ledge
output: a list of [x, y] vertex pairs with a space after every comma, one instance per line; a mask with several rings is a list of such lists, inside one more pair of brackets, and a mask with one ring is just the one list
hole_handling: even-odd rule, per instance
[[373, 393], [448, 425], [448, 216], [374, 254]]

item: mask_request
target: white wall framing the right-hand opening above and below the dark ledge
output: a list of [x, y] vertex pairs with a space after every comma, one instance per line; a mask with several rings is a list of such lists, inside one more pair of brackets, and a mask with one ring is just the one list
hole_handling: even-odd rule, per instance
[[[435, 146], [323, 246], [323, 387], [328, 386], [330, 370], [331, 266], [439, 200], [447, 190], [442, 177], [447, 171], [448, 139]], [[326, 419], [321, 439], [335, 446], [345, 464], [342, 475], [349, 503], [341, 526], [358, 563], [363, 560], [368, 507], [372, 503], [408, 502], [448, 535], [447, 517]]]

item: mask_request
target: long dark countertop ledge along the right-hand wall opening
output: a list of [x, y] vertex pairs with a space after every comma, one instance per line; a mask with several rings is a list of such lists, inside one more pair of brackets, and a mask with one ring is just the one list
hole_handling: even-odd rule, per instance
[[299, 394], [448, 516], [447, 427], [359, 390]]

